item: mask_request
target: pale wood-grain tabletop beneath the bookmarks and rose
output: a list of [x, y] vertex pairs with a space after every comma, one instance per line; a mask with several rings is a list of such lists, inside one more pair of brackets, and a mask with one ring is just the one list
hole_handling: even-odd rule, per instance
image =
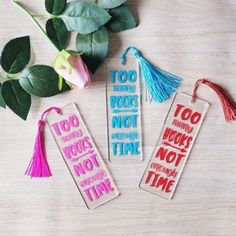
[[[43, 0], [24, 0], [44, 12]], [[129, 0], [139, 19], [131, 31], [110, 35], [110, 57], [129, 44], [155, 65], [184, 78], [191, 93], [199, 76], [223, 85], [236, 100], [236, 2], [234, 0]], [[30, 35], [32, 63], [50, 64], [56, 52], [38, 29], [9, 0], [0, 4], [0, 46]], [[72, 39], [71, 48], [74, 40]], [[118, 59], [117, 59], [118, 60]], [[171, 99], [143, 105], [144, 158], [141, 163], [109, 164], [106, 142], [105, 84], [99, 78], [88, 90], [53, 98], [34, 97], [26, 122], [0, 110], [1, 235], [235, 235], [236, 126], [224, 122], [215, 94], [202, 87], [199, 97], [212, 105], [191, 152], [173, 200], [141, 191], [138, 183], [161, 132]], [[24, 176], [37, 120], [51, 105], [78, 104], [108, 164], [121, 196], [87, 210], [48, 129], [46, 149], [53, 177]]]

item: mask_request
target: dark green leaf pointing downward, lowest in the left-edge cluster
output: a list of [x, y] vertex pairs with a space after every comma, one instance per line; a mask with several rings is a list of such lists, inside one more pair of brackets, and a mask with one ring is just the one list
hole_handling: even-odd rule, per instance
[[23, 120], [26, 120], [31, 106], [31, 96], [19, 83], [19, 80], [7, 80], [2, 85], [2, 96], [7, 106]]

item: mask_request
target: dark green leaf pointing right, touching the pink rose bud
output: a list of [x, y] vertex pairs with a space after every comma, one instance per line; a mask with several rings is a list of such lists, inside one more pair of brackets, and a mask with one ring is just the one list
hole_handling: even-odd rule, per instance
[[70, 90], [63, 80], [62, 89], [58, 88], [59, 76], [50, 66], [35, 65], [26, 68], [20, 75], [20, 85], [28, 93], [38, 97], [51, 97]]

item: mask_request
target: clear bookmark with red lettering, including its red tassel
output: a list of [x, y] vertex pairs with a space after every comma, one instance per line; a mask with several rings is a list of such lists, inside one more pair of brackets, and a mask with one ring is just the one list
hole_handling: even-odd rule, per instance
[[205, 84], [216, 92], [227, 122], [236, 119], [236, 105], [233, 100], [221, 87], [206, 79], [196, 82], [192, 96], [177, 93], [141, 179], [141, 189], [165, 199], [172, 198], [209, 108], [208, 102], [196, 98], [200, 84]]

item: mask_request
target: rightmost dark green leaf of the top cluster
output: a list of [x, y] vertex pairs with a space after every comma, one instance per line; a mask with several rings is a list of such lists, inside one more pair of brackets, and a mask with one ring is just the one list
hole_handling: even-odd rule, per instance
[[120, 6], [109, 10], [111, 20], [106, 24], [106, 27], [113, 32], [132, 29], [137, 26], [133, 14], [126, 6]]

